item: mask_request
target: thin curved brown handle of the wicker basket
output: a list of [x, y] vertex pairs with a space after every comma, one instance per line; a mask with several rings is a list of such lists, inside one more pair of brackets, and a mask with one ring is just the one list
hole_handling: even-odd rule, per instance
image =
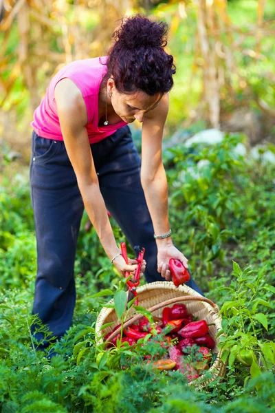
[[[175, 304], [179, 301], [203, 301], [205, 303], [210, 304], [210, 306], [212, 306], [215, 313], [219, 311], [217, 304], [214, 304], [213, 301], [211, 301], [210, 299], [206, 297], [192, 297], [190, 295], [184, 295], [183, 297], [181, 296], [181, 297], [166, 299], [166, 301], [163, 301], [162, 303], [159, 303], [159, 304], [155, 304], [155, 306], [148, 308], [148, 311], [150, 311], [150, 313], [153, 313], [154, 311], [159, 310], [159, 308], [166, 307], [169, 304]], [[135, 321], [138, 321], [142, 317], [143, 317], [143, 314], [137, 314], [134, 317], [131, 317], [131, 319], [129, 319], [123, 324], [123, 328], [131, 326], [131, 324], [135, 323]], [[112, 332], [112, 334], [104, 342], [104, 346], [106, 346], [107, 343], [109, 343], [109, 341], [111, 341], [116, 335], [118, 335], [120, 328], [121, 327], [118, 327]]]

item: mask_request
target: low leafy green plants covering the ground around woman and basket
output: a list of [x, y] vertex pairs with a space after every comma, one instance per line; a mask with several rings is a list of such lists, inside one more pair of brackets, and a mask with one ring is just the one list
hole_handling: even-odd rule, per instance
[[[203, 390], [189, 387], [177, 372], [152, 372], [127, 346], [113, 352], [96, 346], [98, 313], [119, 291], [123, 301], [124, 282], [94, 229], [85, 231], [86, 214], [78, 238], [72, 327], [52, 343], [56, 357], [49, 360], [34, 350], [39, 343], [30, 326], [39, 324], [46, 336], [50, 332], [30, 315], [36, 243], [28, 168], [3, 160], [1, 412], [275, 412], [275, 166], [239, 155], [241, 142], [246, 145], [244, 136], [228, 135], [214, 146], [181, 145], [164, 153], [175, 244], [223, 317], [226, 375]], [[124, 240], [113, 218], [111, 224], [116, 240]]]

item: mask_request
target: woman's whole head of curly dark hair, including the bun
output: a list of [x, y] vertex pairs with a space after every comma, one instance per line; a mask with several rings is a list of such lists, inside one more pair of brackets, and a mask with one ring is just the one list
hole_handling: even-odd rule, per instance
[[121, 20], [112, 35], [115, 42], [109, 49], [107, 63], [100, 61], [107, 65], [102, 84], [113, 76], [116, 89], [123, 94], [142, 91], [153, 96], [169, 92], [176, 67], [173, 56], [164, 52], [168, 25], [141, 14]]

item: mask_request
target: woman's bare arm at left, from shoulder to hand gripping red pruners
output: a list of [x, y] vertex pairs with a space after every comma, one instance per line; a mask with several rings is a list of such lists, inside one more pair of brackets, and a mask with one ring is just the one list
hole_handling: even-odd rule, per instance
[[[87, 125], [87, 110], [83, 96], [74, 82], [69, 78], [65, 78], [56, 85], [54, 97], [65, 147], [76, 173], [85, 209], [96, 229], [104, 251], [111, 260], [114, 255], [120, 252], [120, 249], [115, 242], [98, 184], [98, 176], [85, 127]], [[117, 262], [121, 266], [125, 264], [121, 256], [113, 263], [116, 264]], [[129, 266], [127, 269], [133, 271], [135, 266]], [[124, 268], [122, 271], [124, 271]]]

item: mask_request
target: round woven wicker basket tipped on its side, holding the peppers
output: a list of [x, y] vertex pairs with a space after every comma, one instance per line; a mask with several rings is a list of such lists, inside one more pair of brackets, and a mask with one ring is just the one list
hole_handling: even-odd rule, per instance
[[[225, 375], [225, 363], [221, 361], [221, 354], [218, 350], [219, 338], [216, 339], [217, 332], [221, 330], [221, 317], [219, 317], [219, 308], [203, 297], [195, 290], [188, 286], [179, 286], [176, 288], [172, 282], [152, 282], [137, 288], [139, 305], [150, 309], [151, 313], [157, 317], [162, 317], [162, 308], [166, 306], [173, 306], [176, 302], [182, 302], [186, 305], [188, 313], [197, 317], [197, 319], [204, 319], [208, 324], [214, 323], [214, 326], [209, 327], [209, 335], [214, 339], [215, 346], [212, 349], [217, 353], [217, 358], [212, 364], [211, 368], [202, 374], [198, 379], [190, 381], [189, 385], [195, 385], [198, 388], [203, 388], [208, 383], [213, 381], [216, 377], [223, 377]], [[109, 304], [113, 303], [113, 300]], [[134, 313], [134, 314], [133, 314]], [[135, 313], [134, 310], [129, 311], [129, 317], [124, 324], [131, 325], [133, 322], [140, 319], [142, 315]], [[112, 326], [100, 330], [100, 328], [107, 323], [114, 321]], [[102, 344], [104, 341], [102, 335], [114, 330], [118, 326], [119, 321], [116, 317], [113, 308], [102, 308], [98, 319], [96, 321], [96, 341]], [[111, 339], [111, 337], [110, 337]]]

